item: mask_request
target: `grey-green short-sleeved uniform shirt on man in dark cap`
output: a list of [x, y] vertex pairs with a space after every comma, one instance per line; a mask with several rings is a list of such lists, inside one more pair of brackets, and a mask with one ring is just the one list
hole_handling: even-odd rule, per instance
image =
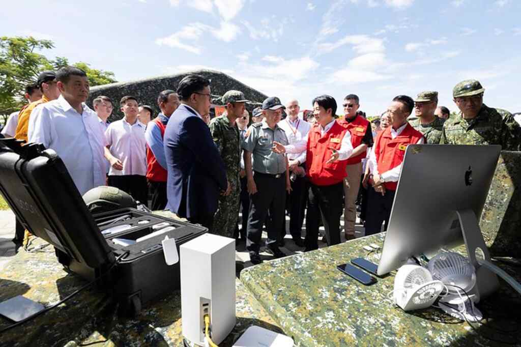
[[270, 175], [278, 175], [286, 171], [286, 158], [271, 150], [273, 142], [288, 145], [286, 132], [279, 126], [268, 127], [265, 120], [253, 124], [246, 132], [242, 148], [253, 154], [253, 170]]

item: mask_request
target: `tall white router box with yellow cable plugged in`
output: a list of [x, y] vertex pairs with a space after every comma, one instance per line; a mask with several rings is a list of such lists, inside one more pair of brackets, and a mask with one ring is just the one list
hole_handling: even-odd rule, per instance
[[208, 313], [218, 344], [235, 326], [235, 240], [206, 233], [179, 250], [183, 336], [203, 346]]

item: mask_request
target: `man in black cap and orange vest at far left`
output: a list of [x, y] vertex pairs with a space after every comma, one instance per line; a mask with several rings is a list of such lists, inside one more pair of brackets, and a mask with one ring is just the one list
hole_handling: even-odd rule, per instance
[[56, 85], [56, 72], [54, 71], [43, 71], [38, 76], [38, 88], [43, 93], [40, 100], [30, 103], [18, 116], [18, 126], [16, 127], [15, 138], [18, 140], [27, 141], [27, 130], [29, 127], [29, 117], [31, 116], [32, 110], [46, 102], [56, 100], [60, 96], [60, 91]]

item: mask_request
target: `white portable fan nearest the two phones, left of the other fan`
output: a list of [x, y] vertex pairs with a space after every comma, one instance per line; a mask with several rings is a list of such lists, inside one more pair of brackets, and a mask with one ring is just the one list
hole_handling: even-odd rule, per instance
[[394, 278], [394, 302], [404, 311], [426, 308], [435, 302], [443, 288], [443, 282], [432, 280], [426, 268], [406, 264]]

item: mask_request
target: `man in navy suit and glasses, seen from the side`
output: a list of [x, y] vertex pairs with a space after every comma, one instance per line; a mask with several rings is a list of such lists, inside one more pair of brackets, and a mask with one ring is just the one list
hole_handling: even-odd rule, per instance
[[181, 105], [165, 129], [167, 208], [212, 232], [219, 194], [229, 193], [226, 167], [201, 115], [210, 109], [210, 81], [185, 76], [178, 85]]

